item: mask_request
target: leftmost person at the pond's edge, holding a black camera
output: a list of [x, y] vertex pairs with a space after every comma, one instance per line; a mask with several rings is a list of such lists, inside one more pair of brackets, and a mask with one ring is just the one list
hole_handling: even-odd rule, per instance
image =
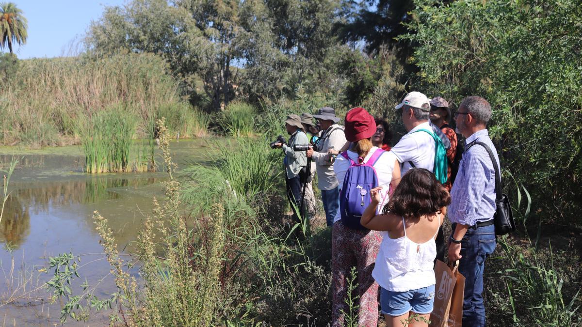
[[285, 165], [285, 185], [287, 190], [287, 197], [293, 209], [293, 218], [299, 221], [297, 211], [301, 210], [301, 191], [303, 190], [303, 183], [299, 173], [301, 169], [305, 169], [307, 165], [306, 151], [294, 151], [294, 145], [307, 145], [307, 135], [303, 131], [301, 125], [301, 118], [297, 115], [289, 115], [285, 119], [285, 129], [290, 135], [289, 143], [285, 143], [282, 137], [275, 141], [274, 145], [281, 148], [285, 154], [283, 163]]

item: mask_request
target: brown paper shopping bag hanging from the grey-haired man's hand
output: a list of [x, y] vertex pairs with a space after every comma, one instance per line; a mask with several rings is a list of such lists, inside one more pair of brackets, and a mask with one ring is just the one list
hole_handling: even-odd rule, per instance
[[463, 318], [463, 293], [465, 278], [445, 262], [435, 265], [435, 301], [431, 313], [431, 327], [460, 326]]

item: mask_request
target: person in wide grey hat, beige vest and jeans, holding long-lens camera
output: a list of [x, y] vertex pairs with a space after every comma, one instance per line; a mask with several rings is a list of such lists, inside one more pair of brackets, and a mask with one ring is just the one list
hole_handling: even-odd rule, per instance
[[317, 168], [317, 187], [321, 190], [321, 200], [324, 202], [325, 221], [333, 225], [333, 218], [339, 209], [339, 183], [333, 172], [335, 157], [328, 150], [339, 150], [347, 143], [343, 127], [338, 125], [339, 117], [335, 110], [325, 106], [313, 115], [321, 124], [321, 137], [314, 147], [307, 150], [307, 158], [315, 161]]

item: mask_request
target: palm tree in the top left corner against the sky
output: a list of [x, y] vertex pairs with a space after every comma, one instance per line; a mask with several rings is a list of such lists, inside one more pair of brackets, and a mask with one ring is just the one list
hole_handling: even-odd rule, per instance
[[0, 48], [5, 48], [8, 44], [8, 49], [12, 54], [13, 42], [18, 45], [26, 43], [28, 37], [26, 29], [28, 29], [28, 22], [22, 15], [22, 10], [12, 2], [0, 3], [0, 35], [2, 37]]

